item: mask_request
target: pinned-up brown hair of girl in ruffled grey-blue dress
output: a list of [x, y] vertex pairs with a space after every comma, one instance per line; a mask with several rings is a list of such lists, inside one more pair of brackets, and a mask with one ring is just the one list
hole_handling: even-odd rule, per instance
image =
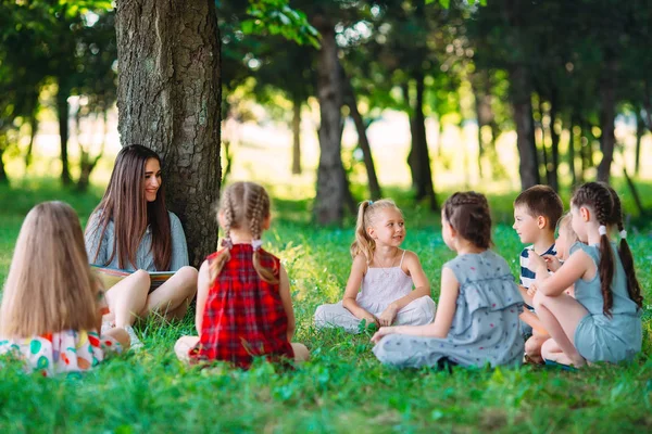
[[443, 204], [443, 216], [463, 239], [479, 248], [491, 246], [491, 213], [484, 194], [454, 193]]

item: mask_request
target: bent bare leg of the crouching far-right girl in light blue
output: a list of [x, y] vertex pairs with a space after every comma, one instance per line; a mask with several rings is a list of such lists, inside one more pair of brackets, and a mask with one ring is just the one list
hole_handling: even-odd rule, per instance
[[535, 308], [550, 336], [568, 357], [568, 365], [578, 368], [584, 366], [586, 361], [575, 347], [575, 330], [579, 321], [589, 315], [589, 311], [578, 301], [566, 294], [549, 297], [541, 292], [537, 292], [535, 295]]

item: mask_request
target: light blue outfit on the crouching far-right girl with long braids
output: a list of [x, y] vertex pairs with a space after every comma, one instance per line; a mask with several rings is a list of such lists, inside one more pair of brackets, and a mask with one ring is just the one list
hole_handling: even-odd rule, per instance
[[[611, 318], [602, 311], [604, 302], [600, 273], [597, 271], [590, 281], [579, 279], [575, 282], [575, 298], [589, 311], [575, 329], [575, 347], [589, 361], [629, 361], [641, 350], [643, 341], [641, 309], [629, 297], [623, 263], [613, 244], [612, 248], [615, 272], [612, 280], [614, 304]], [[570, 253], [577, 250], [582, 250], [599, 267], [600, 250], [597, 245], [578, 242], [570, 247]]]

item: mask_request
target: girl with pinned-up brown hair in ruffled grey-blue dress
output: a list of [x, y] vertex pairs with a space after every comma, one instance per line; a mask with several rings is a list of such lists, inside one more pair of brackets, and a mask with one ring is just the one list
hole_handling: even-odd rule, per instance
[[491, 216], [479, 193], [455, 193], [441, 212], [443, 241], [457, 256], [443, 265], [435, 322], [383, 327], [374, 354], [399, 368], [517, 366], [524, 342], [523, 298], [507, 263], [489, 250]]

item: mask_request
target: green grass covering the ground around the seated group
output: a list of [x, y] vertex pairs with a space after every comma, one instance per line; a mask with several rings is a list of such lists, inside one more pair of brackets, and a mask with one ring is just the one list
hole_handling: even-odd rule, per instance
[[[642, 186], [650, 192], [650, 186]], [[438, 218], [409, 205], [408, 193], [391, 191], [403, 206], [404, 246], [419, 254], [439, 293], [441, 264], [452, 257]], [[57, 182], [0, 188], [0, 281], [3, 281], [21, 221], [37, 202], [60, 199], [83, 220], [101, 189], [79, 195]], [[513, 194], [490, 197], [498, 221], [496, 250], [514, 273], [522, 245], [511, 229]], [[444, 196], [441, 199], [443, 200]], [[649, 194], [644, 197], [650, 197]], [[626, 199], [626, 207], [630, 209]], [[278, 254], [292, 282], [297, 341], [312, 350], [294, 371], [266, 363], [250, 371], [179, 363], [175, 340], [192, 332], [149, 321], [140, 328], [145, 349], [102, 363], [80, 379], [43, 379], [14, 365], [0, 369], [1, 432], [643, 432], [652, 429], [651, 312], [645, 311], [644, 352], [629, 366], [600, 366], [578, 373], [521, 369], [429, 369], [398, 371], [371, 355], [368, 336], [316, 332], [318, 304], [342, 294], [349, 272], [351, 219], [346, 229], [309, 224], [308, 201], [275, 201], [267, 247]], [[652, 238], [641, 219], [630, 229], [631, 248], [647, 303], [652, 296]]]

